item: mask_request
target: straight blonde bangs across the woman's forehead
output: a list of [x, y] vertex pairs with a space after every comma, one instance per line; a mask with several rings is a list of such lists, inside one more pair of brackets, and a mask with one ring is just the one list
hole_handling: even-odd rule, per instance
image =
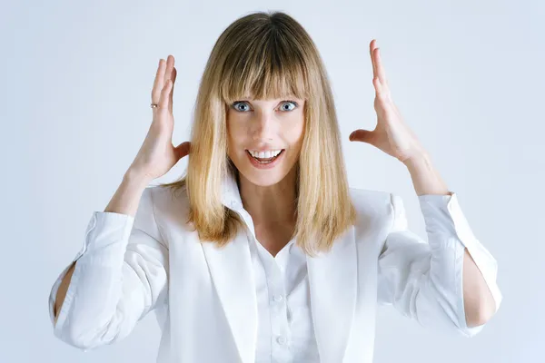
[[237, 42], [221, 74], [225, 103], [254, 99], [308, 99], [308, 77], [302, 52], [270, 31]]

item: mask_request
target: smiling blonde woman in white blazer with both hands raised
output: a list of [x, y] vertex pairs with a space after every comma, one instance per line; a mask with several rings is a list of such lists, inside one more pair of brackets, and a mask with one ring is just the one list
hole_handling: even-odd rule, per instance
[[[191, 143], [174, 147], [173, 56], [160, 61], [144, 144], [55, 281], [54, 335], [92, 349], [155, 310], [158, 362], [372, 362], [377, 301], [471, 337], [500, 306], [497, 264], [402, 122], [376, 42], [375, 130], [411, 173], [428, 243], [401, 197], [348, 187], [332, 91], [291, 16], [255, 13], [219, 37]], [[147, 187], [189, 156], [179, 181]]]

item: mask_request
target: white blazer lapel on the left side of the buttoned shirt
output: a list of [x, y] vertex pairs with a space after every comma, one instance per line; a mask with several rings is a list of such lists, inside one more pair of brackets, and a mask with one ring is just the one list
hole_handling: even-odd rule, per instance
[[246, 231], [240, 231], [223, 249], [211, 242], [201, 245], [241, 360], [253, 363], [257, 344], [257, 298]]

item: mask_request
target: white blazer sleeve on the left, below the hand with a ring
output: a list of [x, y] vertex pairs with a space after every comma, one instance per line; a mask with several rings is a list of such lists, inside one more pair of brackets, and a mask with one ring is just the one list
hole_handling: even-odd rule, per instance
[[112, 344], [165, 302], [168, 249], [155, 222], [152, 190], [144, 190], [134, 217], [94, 211], [83, 248], [74, 257], [74, 273], [56, 324], [56, 293], [72, 263], [51, 289], [55, 337], [85, 351]]

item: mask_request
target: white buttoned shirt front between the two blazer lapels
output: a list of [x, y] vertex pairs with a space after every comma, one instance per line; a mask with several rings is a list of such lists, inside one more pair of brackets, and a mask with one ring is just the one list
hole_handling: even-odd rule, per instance
[[294, 239], [275, 257], [249, 240], [259, 305], [255, 363], [319, 362], [304, 253]]

